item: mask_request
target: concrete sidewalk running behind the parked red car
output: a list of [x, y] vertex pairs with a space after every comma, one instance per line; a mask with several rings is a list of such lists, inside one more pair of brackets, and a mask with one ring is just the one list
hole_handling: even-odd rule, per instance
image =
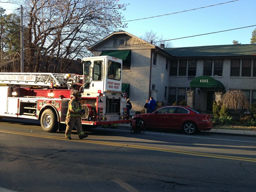
[[[118, 124], [118, 126], [119, 127], [131, 127], [130, 123], [129, 124]], [[256, 137], [256, 131], [251, 131], [251, 130], [211, 129], [210, 131], [204, 131], [204, 133]]]

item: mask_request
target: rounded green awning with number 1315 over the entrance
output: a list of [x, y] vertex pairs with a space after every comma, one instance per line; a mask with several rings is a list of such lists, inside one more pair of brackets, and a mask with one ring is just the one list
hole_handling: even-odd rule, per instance
[[190, 82], [189, 86], [190, 87], [216, 87], [222, 91], [225, 90], [224, 85], [220, 81], [210, 76], [196, 77]]

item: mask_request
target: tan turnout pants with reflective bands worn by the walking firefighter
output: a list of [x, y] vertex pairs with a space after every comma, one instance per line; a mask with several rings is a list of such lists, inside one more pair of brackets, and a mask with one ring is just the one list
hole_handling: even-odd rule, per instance
[[72, 129], [73, 129], [74, 125], [76, 126], [76, 131], [77, 131], [78, 137], [81, 138], [82, 136], [84, 136], [84, 132], [82, 129], [81, 117], [79, 117], [79, 116], [67, 117], [66, 125], [67, 125], [66, 132], [65, 132], [66, 138], [71, 136]]

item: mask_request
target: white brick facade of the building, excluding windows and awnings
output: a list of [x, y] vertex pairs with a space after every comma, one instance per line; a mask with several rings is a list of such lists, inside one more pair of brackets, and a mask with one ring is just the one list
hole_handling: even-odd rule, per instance
[[[130, 44], [126, 46], [114, 47], [114, 39], [120, 38], [129, 39]], [[94, 52], [94, 56], [99, 56], [102, 51], [106, 50], [131, 50], [131, 67], [130, 70], [123, 70], [122, 78], [122, 83], [130, 84], [130, 101], [132, 103], [131, 115], [134, 114], [135, 111], [140, 111], [141, 109], [143, 109], [146, 99], [153, 95], [156, 101], [162, 101], [165, 105], [170, 104], [168, 103], [169, 88], [176, 88], [176, 99], [178, 98], [177, 94], [179, 88], [183, 88], [183, 91], [184, 88], [186, 91], [189, 91], [189, 84], [191, 80], [197, 76], [204, 75], [205, 59], [212, 60], [212, 77], [220, 81], [225, 86], [226, 91], [228, 91], [229, 89], [249, 90], [247, 92], [250, 97], [250, 102], [252, 102], [252, 94], [255, 94], [256, 99], [256, 76], [241, 76], [242, 59], [252, 59], [251, 74], [253, 74], [253, 60], [256, 60], [256, 55], [239, 57], [236, 55], [233, 57], [173, 57], [171, 54], [166, 53], [165, 50], [162, 50], [159, 47], [155, 47], [154, 45], [149, 44], [148, 42], [145, 42], [142, 39], [133, 36], [127, 32], [113, 33], [108, 37], [102, 39], [98, 43], [89, 47], [88, 50]], [[156, 52], [156, 65], [153, 65], [153, 52]], [[240, 76], [236, 77], [230, 76], [231, 59], [234, 58], [241, 59]], [[179, 67], [177, 71], [177, 76], [170, 76], [170, 66], [168, 62], [168, 69], [166, 69], [166, 60], [169, 61], [184, 59], [187, 60], [187, 76], [178, 75]], [[196, 76], [188, 76], [188, 60], [190, 59], [196, 60]], [[213, 76], [215, 59], [223, 60], [222, 76]], [[152, 85], [155, 85], [155, 91], [153, 92], [151, 90]], [[165, 90], [167, 90], [166, 97]], [[194, 90], [194, 108], [200, 109], [202, 111], [207, 110], [207, 105], [209, 105], [209, 95], [219, 91], [217, 88], [194, 88]], [[185, 99], [186, 98], [187, 95], [185, 94]]]

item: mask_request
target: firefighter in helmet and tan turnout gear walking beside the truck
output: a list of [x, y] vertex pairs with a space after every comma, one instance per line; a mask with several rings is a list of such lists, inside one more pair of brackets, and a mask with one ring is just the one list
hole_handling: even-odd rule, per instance
[[85, 110], [81, 110], [81, 105], [79, 103], [79, 99], [81, 99], [81, 93], [78, 91], [73, 92], [73, 98], [68, 102], [68, 113], [66, 117], [66, 132], [65, 137], [68, 140], [71, 140], [71, 132], [74, 125], [76, 126], [76, 131], [78, 134], [78, 137], [80, 139], [84, 139], [88, 137], [88, 135], [85, 135], [82, 129], [82, 122], [80, 115], [83, 115], [85, 113]]

